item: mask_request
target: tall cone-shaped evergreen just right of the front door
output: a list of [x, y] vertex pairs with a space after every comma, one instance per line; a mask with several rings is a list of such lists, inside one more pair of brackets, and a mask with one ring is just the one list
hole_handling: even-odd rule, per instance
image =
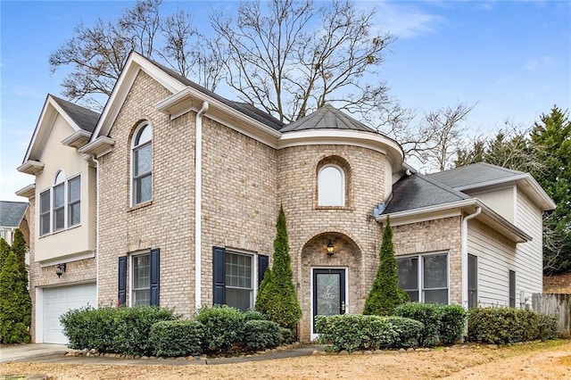
[[379, 252], [377, 277], [370, 293], [368, 293], [363, 314], [393, 315], [394, 309], [402, 303], [402, 296], [397, 287], [398, 281], [399, 275], [396, 259], [394, 259], [393, 227], [391, 227], [391, 219], [386, 217], [383, 243]]

